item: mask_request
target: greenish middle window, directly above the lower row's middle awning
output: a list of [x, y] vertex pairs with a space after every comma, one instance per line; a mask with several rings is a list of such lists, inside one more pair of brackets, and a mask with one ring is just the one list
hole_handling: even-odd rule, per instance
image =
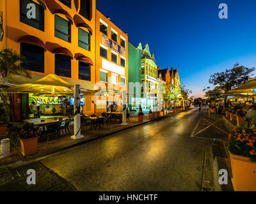
[[58, 15], [55, 15], [55, 37], [68, 41], [70, 43], [70, 33], [70, 22], [59, 17]]

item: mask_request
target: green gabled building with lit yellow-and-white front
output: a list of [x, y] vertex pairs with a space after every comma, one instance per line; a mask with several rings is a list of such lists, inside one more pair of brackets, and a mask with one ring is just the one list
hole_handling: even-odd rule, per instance
[[148, 44], [134, 47], [128, 43], [129, 109], [138, 111], [154, 110], [157, 101], [157, 65], [154, 54], [150, 54]]

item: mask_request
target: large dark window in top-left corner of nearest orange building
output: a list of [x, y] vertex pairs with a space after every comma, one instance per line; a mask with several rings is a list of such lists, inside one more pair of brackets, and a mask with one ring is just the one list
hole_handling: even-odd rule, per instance
[[[28, 18], [29, 9], [27, 5], [33, 3], [36, 6], [36, 18]], [[44, 7], [31, 0], [20, 0], [20, 22], [44, 31]]]

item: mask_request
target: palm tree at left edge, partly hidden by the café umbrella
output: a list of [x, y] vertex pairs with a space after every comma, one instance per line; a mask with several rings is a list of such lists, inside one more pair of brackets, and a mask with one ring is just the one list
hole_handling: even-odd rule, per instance
[[[9, 75], [20, 75], [31, 78], [26, 64], [26, 58], [20, 56], [10, 48], [3, 49], [0, 52], [0, 74], [2, 78], [8, 77]], [[4, 103], [9, 120], [14, 122], [12, 97], [10, 97], [10, 94], [4, 94], [4, 89], [6, 89], [6, 86], [0, 85], [0, 98]]]

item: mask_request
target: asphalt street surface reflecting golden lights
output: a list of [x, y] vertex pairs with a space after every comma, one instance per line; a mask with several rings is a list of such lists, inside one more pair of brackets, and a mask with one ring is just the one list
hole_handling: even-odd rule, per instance
[[[42, 185], [46, 173], [39, 175], [35, 187], [39, 191], [58, 191], [55, 183], [59, 189], [70, 189], [68, 184], [78, 191], [200, 191], [205, 146], [212, 138], [227, 138], [227, 132], [221, 115], [194, 108], [65, 150], [26, 168], [39, 166], [36, 177], [44, 169], [54, 175], [54, 182], [47, 174], [49, 183]], [[20, 178], [20, 191], [26, 191], [25, 181]], [[15, 179], [6, 183], [0, 191], [19, 189]]]

